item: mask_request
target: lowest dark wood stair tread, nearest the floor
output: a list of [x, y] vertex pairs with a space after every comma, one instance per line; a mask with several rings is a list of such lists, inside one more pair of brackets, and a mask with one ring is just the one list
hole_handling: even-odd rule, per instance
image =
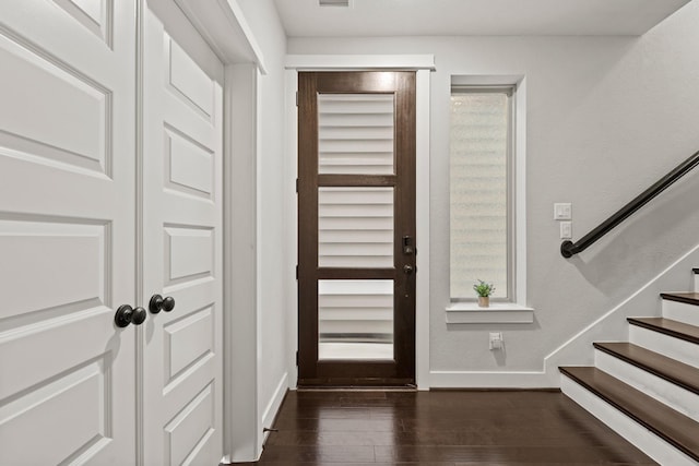
[[560, 367], [559, 370], [691, 458], [699, 461], [699, 422], [597, 368]]

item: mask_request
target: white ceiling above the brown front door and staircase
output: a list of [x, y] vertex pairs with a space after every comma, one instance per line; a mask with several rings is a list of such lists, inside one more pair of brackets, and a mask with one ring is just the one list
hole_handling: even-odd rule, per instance
[[[690, 0], [274, 0], [289, 37], [642, 35]], [[696, 0], [699, 1], [699, 0]]]

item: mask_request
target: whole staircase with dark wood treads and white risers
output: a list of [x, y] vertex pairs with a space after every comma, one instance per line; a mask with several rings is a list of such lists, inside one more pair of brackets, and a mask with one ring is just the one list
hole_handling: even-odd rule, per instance
[[699, 268], [695, 292], [629, 318], [629, 342], [594, 343], [594, 367], [560, 367], [561, 390], [661, 465], [699, 465]]

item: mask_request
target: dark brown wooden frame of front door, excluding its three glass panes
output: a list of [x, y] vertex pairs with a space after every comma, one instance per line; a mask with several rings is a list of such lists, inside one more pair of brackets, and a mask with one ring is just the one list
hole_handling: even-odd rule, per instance
[[[319, 175], [319, 93], [378, 93], [395, 96], [394, 175]], [[298, 384], [413, 385], [415, 383], [415, 255], [401, 238], [416, 236], [415, 225], [415, 72], [303, 72], [298, 76]], [[394, 266], [318, 267], [318, 189], [394, 188]], [[335, 361], [318, 358], [318, 280], [394, 280], [394, 360]]]

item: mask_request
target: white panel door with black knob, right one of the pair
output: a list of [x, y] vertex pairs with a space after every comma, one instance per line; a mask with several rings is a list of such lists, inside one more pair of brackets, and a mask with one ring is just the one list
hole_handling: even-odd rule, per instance
[[150, 2], [144, 51], [146, 465], [223, 456], [223, 64], [171, 1]]

